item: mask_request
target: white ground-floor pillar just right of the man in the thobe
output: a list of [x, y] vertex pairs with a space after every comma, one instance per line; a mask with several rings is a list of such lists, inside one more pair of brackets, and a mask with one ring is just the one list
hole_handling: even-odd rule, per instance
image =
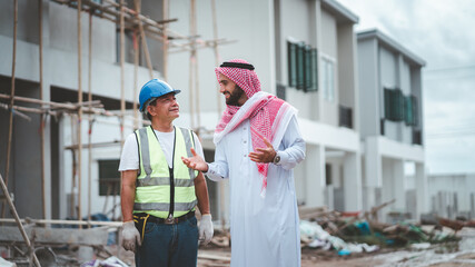
[[306, 156], [307, 187], [306, 197], [308, 207], [324, 206], [325, 189], [325, 147], [307, 147]]

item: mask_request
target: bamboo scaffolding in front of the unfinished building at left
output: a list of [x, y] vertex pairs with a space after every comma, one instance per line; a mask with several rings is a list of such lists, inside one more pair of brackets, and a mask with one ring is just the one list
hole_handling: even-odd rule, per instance
[[[55, 102], [55, 101], [44, 101], [43, 100], [43, 40], [42, 40], [42, 9], [43, 9], [43, 1], [38, 0], [38, 16], [39, 16], [39, 23], [38, 23], [38, 31], [39, 31], [39, 95], [40, 99], [36, 98], [27, 98], [27, 97], [19, 97], [16, 96], [16, 61], [17, 61], [17, 24], [18, 24], [18, 0], [14, 0], [14, 16], [13, 16], [13, 57], [12, 57], [12, 73], [11, 73], [11, 90], [10, 96], [0, 93], [0, 99], [8, 100], [9, 103], [1, 103], [0, 108], [9, 110], [9, 126], [8, 126], [8, 148], [7, 148], [7, 166], [6, 166], [6, 175], [4, 179], [2, 176], [0, 176], [0, 184], [2, 186], [3, 196], [4, 199], [1, 199], [1, 217], [0, 219], [4, 218], [4, 200], [8, 202], [10, 210], [14, 215], [14, 220], [22, 233], [22, 236], [24, 237], [24, 241], [30, 250], [30, 264], [33, 263], [34, 265], [39, 266], [38, 259], [34, 256], [32, 244], [28, 239], [27, 235], [23, 235], [24, 229], [22, 226], [22, 220], [18, 217], [18, 214], [16, 212], [14, 205], [12, 199], [10, 198], [9, 191], [8, 191], [8, 178], [10, 176], [10, 160], [11, 160], [11, 144], [12, 144], [12, 126], [13, 126], [13, 117], [18, 117], [26, 120], [31, 120], [31, 118], [27, 113], [38, 113], [41, 116], [41, 122], [40, 122], [40, 140], [41, 140], [41, 197], [42, 197], [42, 219], [46, 219], [47, 208], [46, 208], [46, 177], [44, 177], [44, 123], [48, 117], [61, 117], [62, 115], [69, 115], [77, 118], [76, 126], [76, 135], [77, 135], [77, 144], [73, 146], [68, 147], [67, 149], [70, 149], [73, 154], [77, 154], [76, 162], [73, 162], [73, 169], [76, 170], [76, 174], [72, 176], [72, 187], [77, 185], [77, 191], [78, 191], [78, 204], [76, 207], [76, 204], [71, 204], [71, 212], [73, 212], [75, 207], [77, 208], [77, 218], [78, 221], [76, 225], [81, 228], [81, 226], [87, 225], [91, 226], [91, 154], [92, 149], [95, 147], [101, 147], [101, 146], [117, 146], [120, 145], [122, 147], [123, 145], [123, 128], [126, 120], [133, 122], [133, 128], [137, 129], [139, 125], [147, 125], [149, 121], [142, 120], [139, 118], [139, 112], [137, 108], [137, 80], [138, 80], [138, 66], [139, 66], [139, 39], [141, 44], [141, 50], [146, 58], [146, 63], [148, 68], [148, 72], [150, 78], [154, 76], [154, 69], [151, 65], [150, 59], [150, 52], [147, 47], [147, 38], [152, 38], [155, 40], [158, 40], [162, 43], [162, 56], [164, 56], [164, 71], [162, 77], [165, 80], [168, 78], [168, 53], [170, 52], [182, 52], [188, 51], [190, 53], [190, 118], [191, 118], [191, 128], [197, 131], [197, 135], [200, 132], [200, 108], [199, 108], [199, 88], [198, 88], [198, 63], [197, 63], [197, 50], [201, 48], [212, 48], [216, 56], [216, 62], [219, 62], [219, 53], [218, 53], [218, 46], [229, 43], [232, 41], [228, 41], [226, 39], [218, 39], [217, 37], [217, 23], [216, 23], [216, 3], [215, 0], [211, 0], [211, 13], [212, 13], [212, 23], [214, 23], [214, 39], [212, 40], [201, 40], [199, 36], [197, 34], [196, 29], [196, 2], [195, 0], [190, 0], [190, 34], [181, 34], [174, 30], [170, 30], [168, 24], [171, 22], [177, 21], [177, 19], [168, 19], [168, 9], [169, 9], [169, 0], [162, 1], [162, 18], [164, 20], [157, 21], [152, 20], [146, 16], [144, 16], [141, 10], [141, 1], [140, 0], [133, 0], [133, 8], [127, 7], [123, 0], [102, 0], [102, 1], [91, 1], [91, 0], [50, 0], [51, 2], [60, 3], [68, 6], [70, 8], [73, 8], [77, 10], [77, 43], [78, 43], [78, 101], [77, 102]], [[82, 29], [81, 29], [81, 18], [82, 16], [87, 13], [89, 16], [89, 27], [88, 27], [88, 99], [87, 101], [83, 101], [82, 99]], [[91, 80], [92, 80], [92, 17], [98, 17], [101, 19], [106, 19], [109, 21], [112, 21], [113, 23], [119, 26], [120, 29], [120, 111], [119, 112], [111, 112], [103, 108], [103, 105], [99, 100], [92, 99], [92, 89], [91, 89]], [[132, 105], [132, 113], [133, 116], [126, 116], [126, 100], [125, 100], [125, 30], [131, 30], [132, 31], [132, 40], [133, 40], [133, 105]], [[219, 96], [219, 92], [217, 90], [217, 93]], [[219, 99], [219, 98], [218, 98]], [[21, 105], [18, 105], [18, 102], [26, 102], [26, 103], [34, 103], [39, 107], [31, 108], [31, 107], [22, 107]], [[220, 111], [220, 102], [218, 101], [218, 111]], [[87, 117], [83, 118], [83, 115], [87, 115]], [[92, 132], [92, 126], [93, 122], [97, 121], [95, 118], [97, 116], [105, 116], [105, 117], [117, 117], [119, 119], [119, 127], [120, 127], [120, 142], [108, 142], [108, 144], [92, 144], [91, 142], [91, 132]], [[82, 137], [81, 137], [81, 121], [88, 120], [89, 121], [89, 130], [88, 130], [88, 142], [87, 145], [82, 144]], [[87, 148], [89, 152], [89, 161], [88, 161], [88, 207], [87, 207], [87, 215], [88, 215], [88, 224], [82, 222], [82, 207], [81, 207], [81, 196], [82, 196], [82, 188], [81, 188], [81, 155], [82, 149]], [[75, 180], [77, 177], [77, 181]], [[71, 192], [75, 188], [71, 189]], [[219, 197], [222, 201], [222, 188], [221, 188], [221, 196]], [[221, 205], [222, 206], [222, 205]], [[222, 210], [221, 210], [222, 214]], [[4, 220], [4, 219], [3, 219]], [[48, 224], [55, 224], [55, 220], [48, 220]]]

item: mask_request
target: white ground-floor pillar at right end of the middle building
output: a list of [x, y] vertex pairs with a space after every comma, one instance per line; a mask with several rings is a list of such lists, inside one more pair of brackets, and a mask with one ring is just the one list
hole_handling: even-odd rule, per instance
[[345, 191], [345, 210], [362, 210], [362, 159], [358, 152], [347, 152], [343, 164], [343, 188]]

